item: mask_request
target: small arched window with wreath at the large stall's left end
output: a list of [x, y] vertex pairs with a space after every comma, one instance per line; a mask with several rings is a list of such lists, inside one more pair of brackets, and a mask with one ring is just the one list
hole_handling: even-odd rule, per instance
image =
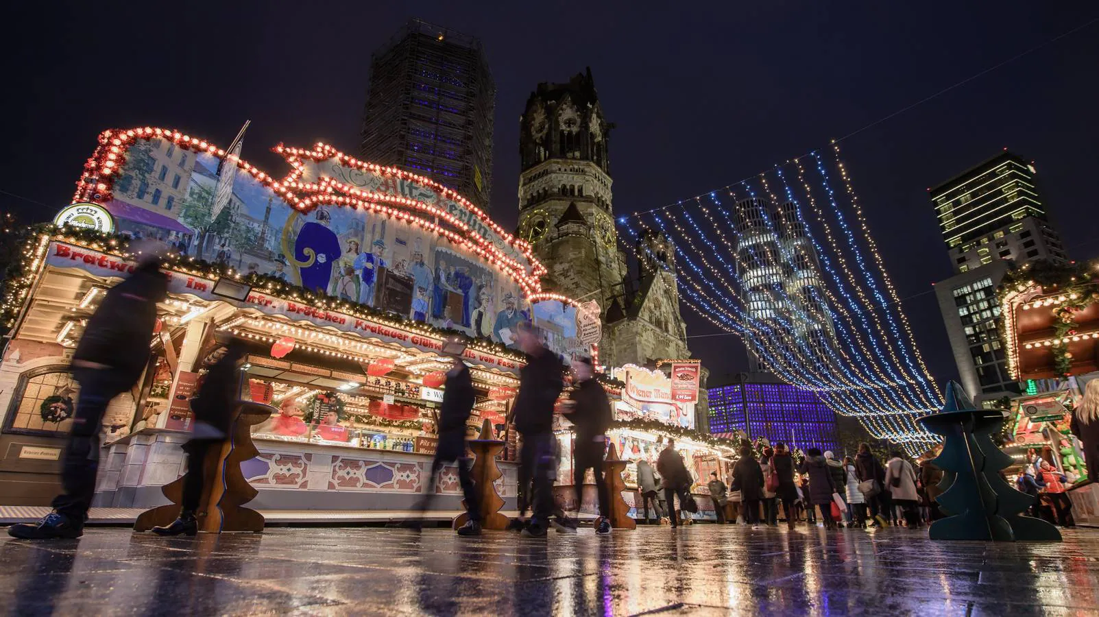
[[67, 434], [79, 389], [65, 364], [27, 371], [20, 376], [11, 398], [4, 432]]

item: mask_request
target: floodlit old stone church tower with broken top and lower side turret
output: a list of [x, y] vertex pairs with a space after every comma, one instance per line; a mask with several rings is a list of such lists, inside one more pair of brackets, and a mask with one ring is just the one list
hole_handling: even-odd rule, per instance
[[600, 361], [652, 365], [689, 357], [667, 239], [637, 239], [637, 275], [619, 249], [611, 206], [609, 136], [591, 69], [539, 84], [520, 117], [519, 229], [547, 268], [547, 290], [602, 310]]

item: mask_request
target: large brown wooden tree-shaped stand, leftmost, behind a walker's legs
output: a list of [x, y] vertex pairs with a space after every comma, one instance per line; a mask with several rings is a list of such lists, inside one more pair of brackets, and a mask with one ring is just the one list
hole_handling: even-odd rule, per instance
[[[275, 408], [246, 400], [238, 400], [230, 428], [229, 439], [211, 448], [203, 461], [202, 498], [196, 513], [199, 531], [263, 531], [264, 517], [256, 510], [242, 507], [259, 494], [241, 473], [241, 463], [259, 455], [252, 442], [252, 427], [270, 417]], [[169, 525], [179, 516], [184, 497], [184, 477], [166, 484], [160, 492], [171, 505], [159, 506], [142, 513], [134, 522], [134, 531]]]

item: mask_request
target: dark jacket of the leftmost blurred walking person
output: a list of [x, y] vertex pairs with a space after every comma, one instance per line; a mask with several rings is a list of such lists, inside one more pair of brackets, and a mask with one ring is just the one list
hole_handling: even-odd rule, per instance
[[104, 364], [118, 372], [120, 382], [134, 384], [148, 364], [156, 304], [167, 294], [168, 278], [159, 271], [159, 262], [142, 262], [130, 278], [103, 296], [73, 360]]

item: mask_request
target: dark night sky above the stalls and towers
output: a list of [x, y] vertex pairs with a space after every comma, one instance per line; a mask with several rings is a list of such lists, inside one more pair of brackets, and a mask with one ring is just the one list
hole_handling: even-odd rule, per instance
[[[68, 203], [108, 128], [175, 128], [224, 146], [251, 119], [243, 155], [273, 174], [285, 169], [269, 151], [280, 141], [357, 154], [370, 52], [411, 16], [485, 44], [498, 89], [492, 209], [507, 228], [517, 218], [519, 115], [539, 81], [591, 66], [618, 125], [610, 156], [621, 214], [825, 146], [1099, 16], [1090, 2], [109, 4], [9, 9], [0, 205], [25, 220]], [[936, 379], [956, 368], [931, 291], [951, 263], [926, 187], [1010, 147], [1035, 162], [1069, 255], [1095, 257], [1097, 67], [1091, 23], [842, 143]], [[684, 312], [688, 335], [717, 331]], [[690, 342], [714, 375], [746, 365], [735, 337]]]

